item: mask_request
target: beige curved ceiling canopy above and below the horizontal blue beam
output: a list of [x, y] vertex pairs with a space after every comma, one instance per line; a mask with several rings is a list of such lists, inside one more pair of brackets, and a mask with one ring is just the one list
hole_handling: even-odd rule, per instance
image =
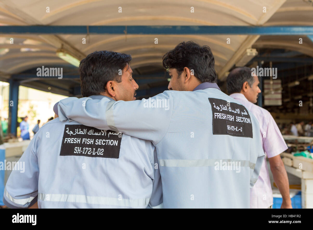
[[[49, 7], [50, 12], [46, 12]], [[122, 12], [118, 13], [118, 7]], [[191, 7], [194, 13], [191, 13]], [[263, 13], [266, 7], [267, 12]], [[2, 0], [2, 25], [313, 25], [313, 7], [300, 0]], [[95, 50], [113, 50], [132, 55], [132, 67], [162, 68], [162, 56], [178, 43], [187, 40], [208, 45], [216, 61], [216, 70], [224, 73], [253, 47], [282, 47], [304, 54], [313, 53], [312, 42], [303, 38], [298, 46], [290, 36], [257, 35], [29, 35], [17, 34], [14, 44], [5, 38], [0, 49], [0, 72], [19, 73], [46, 64], [66, 64], [55, 52], [62, 44], [76, 57]], [[286, 37], [286, 36], [285, 36]], [[287, 36], [288, 37], [288, 36]], [[82, 43], [86, 38], [86, 44]], [[154, 43], [158, 38], [158, 44]], [[230, 38], [230, 44], [226, 39]], [[259, 38], [259, 39], [258, 39]], [[280, 39], [280, 40], [277, 40]], [[291, 39], [291, 40], [290, 40]], [[295, 43], [294, 43], [295, 42]], [[310, 44], [309, 44], [310, 43]], [[9, 50], [7, 50], [9, 49]], [[27, 51], [27, 52], [22, 52]], [[69, 64], [70, 65], [70, 64]]]

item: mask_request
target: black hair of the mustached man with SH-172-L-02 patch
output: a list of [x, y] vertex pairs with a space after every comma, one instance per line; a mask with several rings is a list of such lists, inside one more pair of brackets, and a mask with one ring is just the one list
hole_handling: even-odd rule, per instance
[[99, 95], [105, 91], [108, 81], [122, 81], [123, 69], [131, 61], [131, 55], [113, 51], [95, 51], [80, 61], [80, 87], [83, 97]]

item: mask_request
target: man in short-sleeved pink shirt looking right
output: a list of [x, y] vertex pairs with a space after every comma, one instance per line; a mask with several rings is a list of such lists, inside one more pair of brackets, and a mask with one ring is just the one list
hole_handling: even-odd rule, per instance
[[280, 153], [288, 147], [269, 111], [254, 104], [257, 102], [261, 90], [258, 86], [258, 77], [251, 73], [252, 71], [248, 67], [238, 67], [229, 73], [226, 80], [226, 87], [230, 96], [250, 110], [260, 125], [265, 158], [259, 178], [254, 187], [250, 189], [250, 208], [271, 208], [273, 205], [273, 192], [266, 157], [269, 158], [274, 181], [283, 197], [281, 208], [292, 208], [288, 176], [280, 158]]

